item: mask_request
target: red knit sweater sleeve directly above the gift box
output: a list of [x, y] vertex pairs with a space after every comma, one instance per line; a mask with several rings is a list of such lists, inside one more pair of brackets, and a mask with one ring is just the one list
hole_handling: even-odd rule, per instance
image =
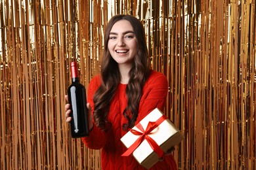
[[146, 81], [142, 92], [139, 115], [135, 124], [139, 123], [142, 118], [156, 108], [163, 111], [168, 93], [168, 82], [166, 76], [162, 73], [153, 71], [150, 78]]

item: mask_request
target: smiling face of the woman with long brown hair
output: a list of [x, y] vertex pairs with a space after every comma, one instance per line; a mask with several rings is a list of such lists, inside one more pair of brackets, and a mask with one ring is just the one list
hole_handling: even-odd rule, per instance
[[137, 41], [129, 21], [119, 20], [113, 25], [108, 40], [108, 50], [119, 66], [132, 65], [137, 52]]

